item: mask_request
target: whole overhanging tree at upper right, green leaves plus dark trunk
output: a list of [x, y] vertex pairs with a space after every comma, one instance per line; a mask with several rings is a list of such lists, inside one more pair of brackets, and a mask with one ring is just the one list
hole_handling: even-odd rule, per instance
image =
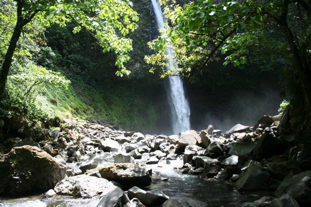
[[[166, 4], [164, 14], [170, 24], [150, 42], [156, 53], [145, 60], [160, 68], [162, 77], [197, 76], [209, 62], [219, 60], [219, 54], [227, 55], [224, 65], [244, 64], [247, 46], [256, 44], [264, 31], [280, 30], [289, 42], [306, 104], [311, 108], [311, 7], [307, 1], [199, 0], [183, 7], [175, 0], [160, 2]], [[175, 57], [165, 53], [167, 48], [173, 49]], [[176, 71], [166, 71], [172, 58], [176, 58]]]

